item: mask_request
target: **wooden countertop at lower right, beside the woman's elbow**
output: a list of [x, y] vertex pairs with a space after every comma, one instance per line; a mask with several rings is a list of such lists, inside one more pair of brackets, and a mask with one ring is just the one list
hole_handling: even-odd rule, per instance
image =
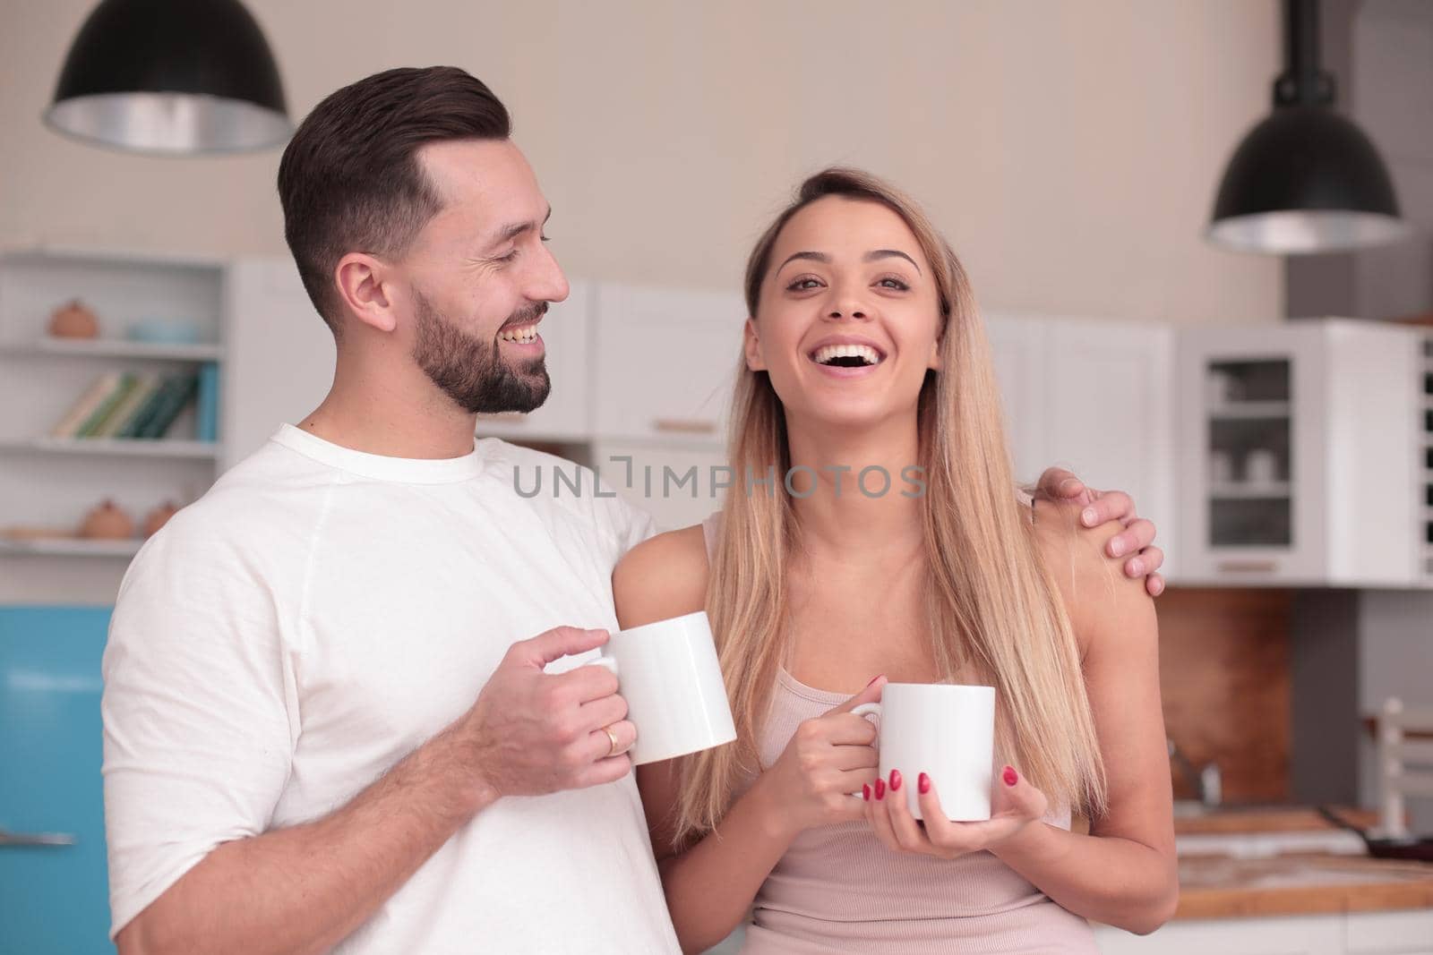
[[1358, 856], [1179, 859], [1176, 919], [1433, 908], [1433, 865]]

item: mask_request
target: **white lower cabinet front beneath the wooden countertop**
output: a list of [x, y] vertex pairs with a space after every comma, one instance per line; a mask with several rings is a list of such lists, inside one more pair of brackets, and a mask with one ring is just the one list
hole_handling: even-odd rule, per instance
[[1151, 935], [1093, 928], [1103, 955], [1433, 955], [1433, 909], [1178, 919]]

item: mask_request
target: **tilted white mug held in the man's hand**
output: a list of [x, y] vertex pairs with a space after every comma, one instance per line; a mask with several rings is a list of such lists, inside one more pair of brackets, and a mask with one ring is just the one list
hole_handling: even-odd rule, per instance
[[632, 762], [656, 763], [737, 739], [706, 611], [613, 633], [595, 664], [618, 679], [636, 726]]

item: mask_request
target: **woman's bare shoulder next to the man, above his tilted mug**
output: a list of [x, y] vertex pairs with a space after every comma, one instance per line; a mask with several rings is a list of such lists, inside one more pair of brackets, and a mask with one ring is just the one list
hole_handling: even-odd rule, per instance
[[649, 537], [612, 571], [618, 623], [639, 627], [701, 610], [706, 606], [706, 574], [701, 524]]

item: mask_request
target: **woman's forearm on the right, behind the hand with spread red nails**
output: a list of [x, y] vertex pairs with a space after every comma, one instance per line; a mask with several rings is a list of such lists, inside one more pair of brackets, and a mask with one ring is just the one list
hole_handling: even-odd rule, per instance
[[1033, 823], [993, 852], [1075, 915], [1129, 932], [1155, 931], [1179, 902], [1174, 856], [1132, 839]]

